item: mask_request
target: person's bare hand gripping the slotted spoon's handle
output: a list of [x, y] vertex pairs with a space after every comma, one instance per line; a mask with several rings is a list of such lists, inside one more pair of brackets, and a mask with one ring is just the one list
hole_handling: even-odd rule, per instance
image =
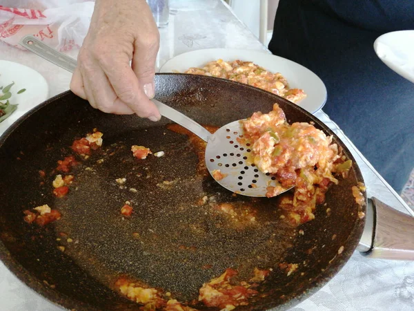
[[70, 89], [105, 113], [157, 121], [161, 115], [150, 98], [158, 49], [158, 28], [145, 0], [96, 0]]

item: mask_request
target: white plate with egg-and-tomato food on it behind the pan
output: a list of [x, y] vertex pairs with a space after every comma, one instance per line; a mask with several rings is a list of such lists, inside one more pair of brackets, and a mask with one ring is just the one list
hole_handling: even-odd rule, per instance
[[[220, 72], [220, 69], [223, 71]], [[255, 50], [194, 50], [169, 59], [159, 72], [195, 73], [232, 79], [285, 97], [309, 113], [321, 109], [327, 98], [324, 82], [311, 70], [289, 59]]]

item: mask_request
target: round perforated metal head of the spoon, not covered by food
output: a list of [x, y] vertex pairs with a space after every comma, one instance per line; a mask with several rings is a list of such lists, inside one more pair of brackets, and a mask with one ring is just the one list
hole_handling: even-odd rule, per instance
[[[226, 189], [244, 196], [264, 197], [268, 187], [284, 188], [274, 176], [259, 171], [253, 163], [250, 144], [244, 142], [239, 121], [231, 122], [210, 136], [206, 147], [206, 167]], [[222, 178], [221, 178], [222, 177]]]

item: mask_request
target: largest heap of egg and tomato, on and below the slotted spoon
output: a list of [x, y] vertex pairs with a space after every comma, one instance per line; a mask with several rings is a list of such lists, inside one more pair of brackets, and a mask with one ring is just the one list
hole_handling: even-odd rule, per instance
[[[334, 174], [346, 175], [352, 161], [345, 160], [332, 142], [332, 136], [305, 122], [288, 124], [278, 104], [270, 113], [253, 113], [242, 121], [243, 140], [249, 143], [252, 162], [263, 173], [276, 176], [282, 187], [295, 187], [293, 198], [285, 197], [281, 207], [291, 223], [299, 225], [315, 218], [313, 211], [325, 200]], [[268, 187], [268, 198], [277, 196], [279, 187]]]

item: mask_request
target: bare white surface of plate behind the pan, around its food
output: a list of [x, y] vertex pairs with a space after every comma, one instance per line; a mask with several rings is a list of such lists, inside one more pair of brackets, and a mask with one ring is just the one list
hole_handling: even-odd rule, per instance
[[253, 62], [272, 73], [281, 73], [288, 80], [290, 88], [302, 88], [307, 94], [297, 105], [310, 113], [321, 109], [326, 102], [324, 82], [308, 68], [276, 55], [257, 52], [255, 50], [236, 50], [227, 48], [209, 48], [194, 50], [169, 59], [159, 69], [160, 73], [172, 73], [175, 70], [184, 73], [190, 67], [202, 67], [207, 62], [217, 59], [233, 61], [240, 59]]

